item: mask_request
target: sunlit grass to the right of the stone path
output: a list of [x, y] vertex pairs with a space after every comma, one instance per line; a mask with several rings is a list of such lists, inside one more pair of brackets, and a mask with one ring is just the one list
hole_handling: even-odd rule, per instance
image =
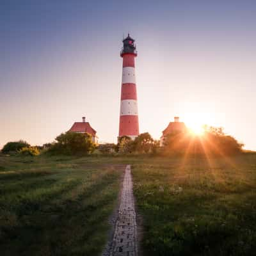
[[145, 255], [255, 255], [256, 155], [134, 164]]

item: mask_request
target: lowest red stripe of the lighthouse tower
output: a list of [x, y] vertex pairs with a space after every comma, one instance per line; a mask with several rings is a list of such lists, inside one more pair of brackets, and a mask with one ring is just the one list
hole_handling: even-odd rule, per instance
[[122, 136], [138, 136], [139, 121], [138, 116], [120, 116], [119, 137]]

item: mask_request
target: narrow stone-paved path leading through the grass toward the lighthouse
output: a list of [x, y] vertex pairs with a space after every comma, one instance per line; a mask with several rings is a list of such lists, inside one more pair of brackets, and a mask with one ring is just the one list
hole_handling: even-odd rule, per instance
[[115, 223], [115, 231], [109, 256], [137, 256], [136, 245], [136, 212], [134, 209], [134, 197], [132, 193], [131, 166], [125, 168], [124, 182], [120, 207]]

